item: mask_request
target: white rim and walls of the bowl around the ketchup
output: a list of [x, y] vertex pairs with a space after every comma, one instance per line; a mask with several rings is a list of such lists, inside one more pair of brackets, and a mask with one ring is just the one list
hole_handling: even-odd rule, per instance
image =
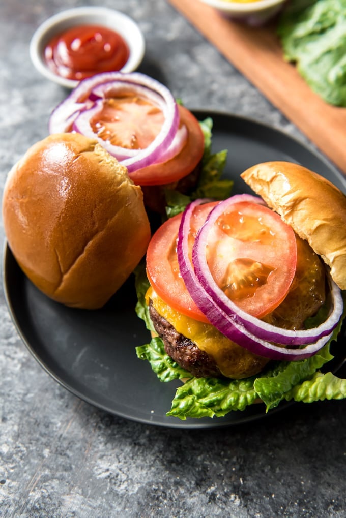
[[66, 79], [54, 74], [45, 61], [45, 48], [51, 38], [77, 25], [101, 25], [112, 29], [127, 42], [130, 56], [121, 68], [122, 72], [132, 72], [143, 60], [144, 36], [139, 26], [124, 13], [106, 7], [76, 7], [67, 9], [48, 18], [35, 31], [30, 42], [30, 57], [35, 68], [47, 79], [65, 88], [75, 88], [79, 81]]

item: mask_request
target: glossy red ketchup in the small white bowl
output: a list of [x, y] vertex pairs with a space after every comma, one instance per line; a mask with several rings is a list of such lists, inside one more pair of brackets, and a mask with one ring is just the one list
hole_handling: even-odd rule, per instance
[[54, 36], [45, 48], [45, 60], [54, 74], [77, 81], [120, 70], [129, 54], [120, 34], [99, 25], [72, 27]]

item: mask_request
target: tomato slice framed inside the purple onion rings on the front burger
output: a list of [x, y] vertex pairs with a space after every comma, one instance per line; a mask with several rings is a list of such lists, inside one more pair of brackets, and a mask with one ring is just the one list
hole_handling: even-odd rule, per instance
[[261, 318], [280, 305], [296, 272], [293, 229], [264, 205], [229, 205], [207, 235], [207, 265], [238, 307]]

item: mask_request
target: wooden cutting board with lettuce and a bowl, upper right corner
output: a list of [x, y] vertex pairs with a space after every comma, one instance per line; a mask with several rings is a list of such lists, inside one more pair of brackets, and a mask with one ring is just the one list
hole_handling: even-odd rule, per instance
[[283, 60], [274, 27], [230, 21], [200, 0], [169, 0], [346, 174], [346, 108], [328, 105]]

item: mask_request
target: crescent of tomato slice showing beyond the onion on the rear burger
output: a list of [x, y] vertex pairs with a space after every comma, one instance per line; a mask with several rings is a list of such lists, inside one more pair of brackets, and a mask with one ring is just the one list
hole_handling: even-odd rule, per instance
[[[152, 164], [131, 172], [130, 178], [137, 185], [164, 185], [177, 182], [187, 176], [202, 159], [204, 136], [196, 117], [184, 106], [179, 105], [181, 124], [185, 124], [188, 137], [184, 148], [164, 163]], [[150, 121], [147, 122], [150, 124]]]

